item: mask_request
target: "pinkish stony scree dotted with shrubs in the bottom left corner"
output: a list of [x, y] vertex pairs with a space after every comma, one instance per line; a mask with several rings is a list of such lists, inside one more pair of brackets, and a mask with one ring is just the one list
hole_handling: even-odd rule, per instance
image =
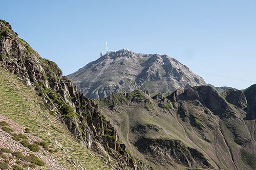
[[[5, 126], [3, 126], [3, 123]], [[12, 130], [12, 132], [6, 132], [0, 129], [0, 162], [8, 162], [6, 163], [6, 169], [15, 165], [40, 169], [40, 165], [38, 166], [36, 163], [31, 163], [29, 159], [26, 159], [26, 157], [29, 157], [31, 154], [37, 156], [40, 161], [44, 162], [44, 166], [48, 169], [67, 169], [67, 167], [58, 164], [56, 158], [54, 158], [48, 150], [38, 146], [40, 151], [33, 152], [21, 144], [20, 141], [17, 140], [17, 137], [14, 138], [15, 135], [19, 135], [27, 139], [30, 143], [42, 141], [39, 137], [25, 133], [25, 127], [20, 126], [3, 115], [0, 115], [0, 124], [2, 124], [0, 128], [8, 127]], [[3, 164], [0, 164], [0, 168], [5, 169], [3, 168]]]

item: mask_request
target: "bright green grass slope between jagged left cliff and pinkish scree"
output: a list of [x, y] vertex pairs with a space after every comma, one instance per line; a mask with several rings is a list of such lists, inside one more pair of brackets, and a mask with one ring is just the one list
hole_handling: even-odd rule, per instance
[[3, 69], [0, 69], [0, 96], [1, 116], [28, 128], [40, 141], [48, 142], [51, 148], [46, 153], [61, 168], [110, 169], [103, 159], [74, 139], [32, 89]]

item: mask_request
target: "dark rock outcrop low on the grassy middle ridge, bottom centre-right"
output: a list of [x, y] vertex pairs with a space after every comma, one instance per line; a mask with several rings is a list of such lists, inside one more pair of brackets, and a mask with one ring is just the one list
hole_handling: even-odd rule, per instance
[[[179, 140], [141, 138], [135, 143], [138, 150], [156, 164], [176, 162], [186, 167], [213, 168], [202, 153], [186, 147]], [[157, 157], [161, 161], [154, 159]], [[152, 159], [153, 158], [153, 159]]]

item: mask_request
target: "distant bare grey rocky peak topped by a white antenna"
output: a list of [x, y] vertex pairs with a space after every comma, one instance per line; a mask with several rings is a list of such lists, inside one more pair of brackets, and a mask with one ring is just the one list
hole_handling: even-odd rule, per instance
[[206, 85], [201, 77], [174, 58], [159, 54], [137, 54], [129, 50], [106, 53], [67, 77], [78, 90], [93, 99], [135, 89], [164, 93]]

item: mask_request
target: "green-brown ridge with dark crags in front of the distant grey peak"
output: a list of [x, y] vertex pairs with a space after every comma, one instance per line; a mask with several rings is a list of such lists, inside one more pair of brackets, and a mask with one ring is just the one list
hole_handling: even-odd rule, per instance
[[127, 148], [158, 169], [255, 169], [256, 86], [114, 93], [98, 103]]

